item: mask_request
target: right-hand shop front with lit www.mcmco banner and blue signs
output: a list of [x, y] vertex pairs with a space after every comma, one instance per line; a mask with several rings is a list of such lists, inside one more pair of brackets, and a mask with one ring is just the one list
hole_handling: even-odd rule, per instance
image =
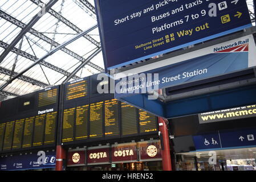
[[255, 105], [170, 120], [176, 170], [255, 171], [254, 112]]

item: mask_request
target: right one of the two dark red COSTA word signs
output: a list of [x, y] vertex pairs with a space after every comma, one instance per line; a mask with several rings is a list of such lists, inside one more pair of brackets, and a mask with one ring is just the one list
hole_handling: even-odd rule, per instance
[[126, 143], [112, 146], [112, 162], [137, 160], [137, 144]]

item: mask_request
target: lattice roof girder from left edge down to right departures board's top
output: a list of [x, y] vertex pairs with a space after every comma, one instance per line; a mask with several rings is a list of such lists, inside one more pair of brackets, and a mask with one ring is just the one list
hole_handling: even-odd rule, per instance
[[[8, 45], [7, 43], [2, 42], [2, 41], [0, 40], [0, 47], [6, 48], [6, 47], [8, 47], [8, 46], [9, 46], [9, 45]], [[14, 53], [18, 53], [18, 51], [19, 51], [19, 49], [15, 48], [15, 47], [11, 50], [11, 52], [14, 52]], [[30, 55], [29, 53], [24, 52], [24, 51], [21, 51], [21, 52], [19, 53], [19, 56], [25, 57], [26, 59], [29, 59], [29, 60], [34, 61], [34, 62], [35, 62], [36, 60], [38, 60], [37, 57], [32, 56], [32, 55]], [[64, 69], [55, 67], [55, 65], [52, 65], [52, 64], [50, 64], [50, 63], [47, 63], [46, 61], [42, 61], [42, 62], [40, 62], [40, 64], [43, 65], [44, 67], [50, 68], [50, 69], [52, 69], [52, 70], [54, 70], [54, 71], [56, 71], [56, 72], [58, 72], [58, 73], [61, 73], [62, 75], [70, 76], [70, 73], [69, 73], [69, 72], [64, 71]], [[74, 79], [79, 79], [80, 77], [74, 76], [73, 78], [74, 78]]]

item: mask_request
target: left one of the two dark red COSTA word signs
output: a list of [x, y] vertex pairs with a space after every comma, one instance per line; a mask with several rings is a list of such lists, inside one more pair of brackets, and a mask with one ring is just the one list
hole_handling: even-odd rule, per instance
[[103, 164], [109, 163], [109, 147], [95, 148], [91, 147], [87, 150], [87, 164]]

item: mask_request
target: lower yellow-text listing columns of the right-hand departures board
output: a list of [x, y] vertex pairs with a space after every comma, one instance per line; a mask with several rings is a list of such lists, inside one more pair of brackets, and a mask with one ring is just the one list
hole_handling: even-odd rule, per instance
[[62, 144], [157, 133], [157, 117], [116, 100], [111, 94], [65, 104]]

